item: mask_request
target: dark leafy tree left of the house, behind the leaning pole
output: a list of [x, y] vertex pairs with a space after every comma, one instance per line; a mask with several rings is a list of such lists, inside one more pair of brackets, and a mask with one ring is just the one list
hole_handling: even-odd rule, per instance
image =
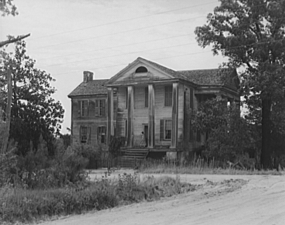
[[[55, 88], [50, 82], [55, 81], [50, 74], [35, 68], [36, 61], [26, 55], [25, 41], [19, 41], [15, 53], [1, 51], [3, 67], [0, 67], [0, 91], [6, 95], [6, 70], [12, 72], [12, 108], [10, 139], [18, 143], [18, 149], [25, 155], [30, 150], [30, 143], [37, 149], [40, 135], [47, 142], [52, 153], [54, 135], [59, 135], [64, 109], [51, 95]], [[6, 102], [1, 102], [5, 108]]]

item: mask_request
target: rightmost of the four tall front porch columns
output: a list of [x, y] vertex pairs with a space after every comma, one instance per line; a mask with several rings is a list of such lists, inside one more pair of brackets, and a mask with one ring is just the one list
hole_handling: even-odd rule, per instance
[[171, 148], [176, 148], [178, 121], [178, 83], [172, 84], [172, 132]]

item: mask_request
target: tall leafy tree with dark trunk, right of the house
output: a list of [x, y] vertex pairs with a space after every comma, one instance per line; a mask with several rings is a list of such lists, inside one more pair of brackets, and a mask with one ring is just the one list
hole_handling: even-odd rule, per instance
[[261, 123], [260, 160], [264, 168], [270, 168], [272, 110], [284, 101], [285, 1], [220, 2], [214, 13], [208, 14], [206, 25], [196, 27], [197, 41], [203, 48], [212, 45], [214, 55], [228, 57], [225, 65], [245, 67], [241, 91], [252, 118]]

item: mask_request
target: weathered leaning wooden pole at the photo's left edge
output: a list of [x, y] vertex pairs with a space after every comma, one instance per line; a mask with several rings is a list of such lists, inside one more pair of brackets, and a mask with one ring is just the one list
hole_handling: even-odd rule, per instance
[[11, 121], [11, 101], [12, 101], [12, 84], [11, 84], [11, 70], [7, 69], [7, 84], [8, 84], [8, 98], [7, 98], [7, 111], [6, 111], [6, 121], [4, 128], [4, 139], [2, 143], [1, 153], [7, 151], [7, 144], [9, 138], [10, 121]]

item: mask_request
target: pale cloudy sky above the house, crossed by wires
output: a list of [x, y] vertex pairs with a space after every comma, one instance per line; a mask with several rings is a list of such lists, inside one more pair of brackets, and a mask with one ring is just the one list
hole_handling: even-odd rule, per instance
[[[108, 79], [137, 57], [173, 70], [217, 68], [226, 61], [198, 46], [194, 30], [218, 0], [14, 0], [19, 14], [0, 17], [0, 41], [24, 35], [35, 67], [56, 79], [52, 96], [65, 109], [62, 133], [71, 126], [67, 97], [83, 81]], [[13, 51], [10, 44], [7, 51]]]

